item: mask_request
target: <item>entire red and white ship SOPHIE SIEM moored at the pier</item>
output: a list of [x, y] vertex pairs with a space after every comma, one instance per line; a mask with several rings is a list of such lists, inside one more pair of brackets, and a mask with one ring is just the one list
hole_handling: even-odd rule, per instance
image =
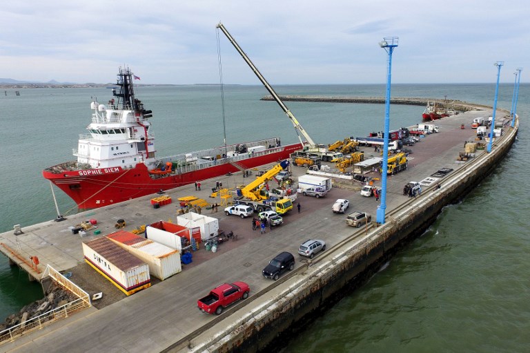
[[302, 144], [282, 146], [277, 137], [155, 157], [153, 112], [135, 97], [128, 68], [119, 68], [118, 88], [108, 104], [90, 104], [92, 122], [79, 135], [77, 160], [50, 166], [43, 177], [74, 200], [95, 209], [289, 158]]

